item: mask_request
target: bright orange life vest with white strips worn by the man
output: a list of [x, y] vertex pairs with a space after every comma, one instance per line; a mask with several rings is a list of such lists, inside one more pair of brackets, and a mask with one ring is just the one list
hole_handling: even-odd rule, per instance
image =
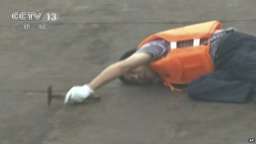
[[[149, 66], [160, 75], [165, 85], [175, 91], [171, 84], [188, 84], [200, 75], [213, 71], [213, 62], [209, 55], [210, 36], [218, 29], [222, 29], [219, 21], [171, 29], [149, 36], [138, 48], [159, 38], [170, 42], [171, 49], [166, 57], [151, 62]], [[208, 39], [207, 45], [200, 45], [200, 39], [205, 38]], [[177, 42], [188, 40], [194, 40], [194, 46], [176, 48]]]

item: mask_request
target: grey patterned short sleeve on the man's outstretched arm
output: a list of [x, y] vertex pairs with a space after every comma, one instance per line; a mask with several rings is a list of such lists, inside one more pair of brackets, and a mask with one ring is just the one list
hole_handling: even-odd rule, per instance
[[170, 50], [170, 43], [163, 39], [156, 39], [146, 43], [136, 53], [149, 53], [152, 55], [150, 61], [156, 61], [165, 57]]

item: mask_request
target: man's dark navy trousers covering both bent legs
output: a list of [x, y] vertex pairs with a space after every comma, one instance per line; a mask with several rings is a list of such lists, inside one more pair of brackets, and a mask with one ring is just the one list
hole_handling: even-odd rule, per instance
[[241, 32], [226, 34], [215, 55], [215, 71], [188, 87], [192, 99], [244, 103], [255, 94], [256, 38]]

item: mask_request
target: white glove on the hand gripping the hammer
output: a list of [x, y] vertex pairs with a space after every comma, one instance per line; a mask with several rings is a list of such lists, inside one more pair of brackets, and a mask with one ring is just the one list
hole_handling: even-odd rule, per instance
[[91, 94], [94, 94], [94, 90], [91, 89], [88, 85], [84, 86], [74, 86], [66, 94], [64, 104], [68, 103], [80, 103], [84, 101]]

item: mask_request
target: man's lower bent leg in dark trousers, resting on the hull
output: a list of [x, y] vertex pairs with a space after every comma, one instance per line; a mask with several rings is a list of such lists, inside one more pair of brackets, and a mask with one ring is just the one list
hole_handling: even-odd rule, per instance
[[226, 71], [214, 71], [203, 75], [187, 87], [192, 99], [226, 103], [244, 103], [255, 88], [249, 82], [237, 81]]

